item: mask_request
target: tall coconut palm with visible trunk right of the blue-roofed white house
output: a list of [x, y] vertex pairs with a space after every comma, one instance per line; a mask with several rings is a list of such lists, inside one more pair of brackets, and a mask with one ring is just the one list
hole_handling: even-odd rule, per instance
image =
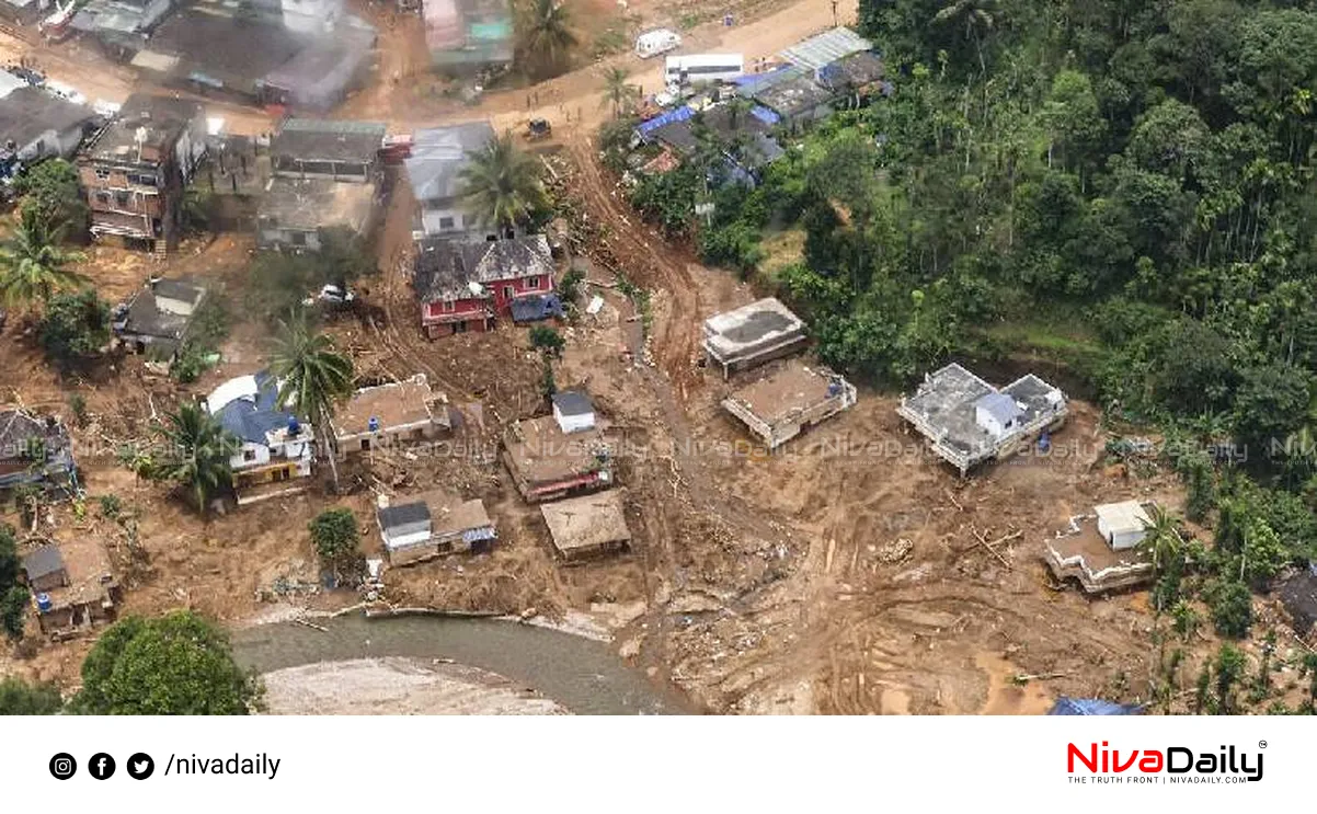
[[[335, 403], [352, 395], [352, 360], [335, 350], [333, 340], [315, 331], [302, 313], [279, 323], [270, 373], [279, 379], [278, 403], [306, 416], [321, 440]], [[338, 483], [338, 466], [327, 456]]]

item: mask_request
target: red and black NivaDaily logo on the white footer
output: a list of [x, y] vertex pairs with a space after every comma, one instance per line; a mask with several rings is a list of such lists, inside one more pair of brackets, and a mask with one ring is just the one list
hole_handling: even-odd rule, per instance
[[[1262, 780], [1262, 751], [1267, 742], [1258, 743], [1258, 752], [1245, 752], [1234, 746], [1220, 747], [1221, 752], [1195, 752], [1188, 747], [1167, 747], [1164, 749], [1121, 749], [1108, 748], [1102, 742], [1088, 747], [1073, 743], [1065, 749], [1065, 768], [1071, 774], [1083, 776], [1087, 769], [1098, 776], [1100, 782], [1125, 780], [1134, 782], [1256, 782]], [[1123, 773], [1129, 773], [1125, 776]]]

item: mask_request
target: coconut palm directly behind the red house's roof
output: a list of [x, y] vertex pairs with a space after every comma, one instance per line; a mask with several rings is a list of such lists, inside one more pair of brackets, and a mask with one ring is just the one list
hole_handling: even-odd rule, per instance
[[524, 224], [536, 211], [548, 207], [540, 184], [540, 166], [518, 149], [512, 133], [504, 132], [483, 149], [468, 154], [460, 195], [466, 211], [478, 221], [499, 231]]

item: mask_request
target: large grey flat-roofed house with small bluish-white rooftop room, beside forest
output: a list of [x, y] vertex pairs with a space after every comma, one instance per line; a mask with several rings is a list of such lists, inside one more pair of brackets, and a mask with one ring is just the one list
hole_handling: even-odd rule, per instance
[[1067, 404], [1060, 390], [1034, 374], [998, 390], [951, 364], [926, 374], [915, 394], [901, 399], [897, 414], [963, 475], [1064, 424]]

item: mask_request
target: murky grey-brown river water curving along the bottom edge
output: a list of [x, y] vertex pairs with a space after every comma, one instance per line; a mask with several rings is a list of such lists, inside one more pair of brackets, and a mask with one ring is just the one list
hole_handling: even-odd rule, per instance
[[670, 688], [628, 666], [605, 643], [503, 619], [348, 615], [233, 631], [237, 661], [259, 673], [320, 661], [452, 659], [525, 685], [581, 715], [690, 713]]

